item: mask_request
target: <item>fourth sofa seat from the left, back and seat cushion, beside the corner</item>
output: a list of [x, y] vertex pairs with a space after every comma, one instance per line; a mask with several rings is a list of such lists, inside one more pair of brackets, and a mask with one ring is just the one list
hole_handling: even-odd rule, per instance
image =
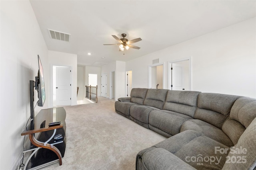
[[216, 93], [200, 93], [194, 119], [182, 125], [180, 132], [194, 130], [228, 147], [234, 146], [222, 131], [222, 125], [230, 114], [234, 102], [241, 96]]

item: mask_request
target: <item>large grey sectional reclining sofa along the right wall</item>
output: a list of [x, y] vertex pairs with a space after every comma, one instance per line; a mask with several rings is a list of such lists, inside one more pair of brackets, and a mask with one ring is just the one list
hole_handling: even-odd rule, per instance
[[138, 152], [136, 170], [256, 169], [256, 99], [133, 88], [116, 112], [168, 139]]

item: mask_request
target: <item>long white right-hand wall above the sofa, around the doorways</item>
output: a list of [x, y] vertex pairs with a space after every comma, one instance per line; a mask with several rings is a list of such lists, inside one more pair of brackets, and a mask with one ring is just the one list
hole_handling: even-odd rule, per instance
[[[256, 98], [256, 18], [126, 62], [133, 87], [148, 88], [148, 65], [192, 56], [192, 90]], [[167, 68], [165, 68], [167, 73]], [[165, 74], [167, 87], [167, 74]]]

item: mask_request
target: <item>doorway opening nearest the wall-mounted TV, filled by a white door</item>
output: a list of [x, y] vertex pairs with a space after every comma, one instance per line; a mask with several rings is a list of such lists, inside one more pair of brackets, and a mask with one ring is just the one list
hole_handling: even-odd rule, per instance
[[52, 104], [71, 105], [71, 67], [52, 66]]

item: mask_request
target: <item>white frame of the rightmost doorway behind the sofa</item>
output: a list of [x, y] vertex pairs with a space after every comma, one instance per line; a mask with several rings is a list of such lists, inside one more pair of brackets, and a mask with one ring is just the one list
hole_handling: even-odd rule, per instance
[[188, 68], [188, 70], [189, 70], [189, 73], [188, 73], [188, 86], [189, 86], [189, 88], [188, 88], [188, 90], [189, 91], [191, 91], [192, 90], [192, 67], [191, 67], [191, 63], [192, 63], [192, 56], [190, 56], [190, 57], [185, 57], [185, 58], [182, 58], [182, 59], [176, 59], [176, 60], [172, 60], [172, 61], [168, 61], [168, 71], [167, 71], [167, 86], [168, 86], [168, 89], [170, 90], [171, 89], [171, 83], [170, 83], [170, 81], [171, 81], [171, 64], [172, 63], [178, 63], [178, 62], [180, 62], [180, 61], [186, 61], [186, 60], [188, 60], [188, 62], [189, 62], [189, 68]]

